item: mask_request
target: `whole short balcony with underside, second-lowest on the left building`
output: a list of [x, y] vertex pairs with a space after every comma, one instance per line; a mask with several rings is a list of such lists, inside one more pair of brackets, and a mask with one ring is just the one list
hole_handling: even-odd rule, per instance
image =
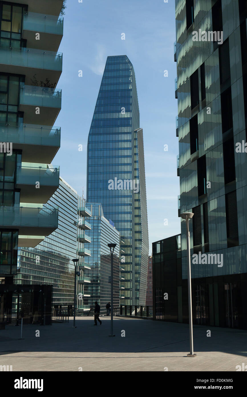
[[37, 163], [17, 164], [16, 188], [20, 189], [21, 202], [46, 203], [58, 187], [59, 167]]

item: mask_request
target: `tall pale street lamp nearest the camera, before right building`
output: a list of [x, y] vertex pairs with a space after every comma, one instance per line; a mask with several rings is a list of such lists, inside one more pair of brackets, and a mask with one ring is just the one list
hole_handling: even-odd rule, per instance
[[180, 214], [182, 219], [186, 220], [186, 237], [187, 237], [187, 264], [188, 264], [188, 298], [189, 298], [189, 325], [190, 325], [190, 354], [187, 357], [196, 357], [193, 351], [193, 324], [192, 324], [192, 300], [191, 300], [191, 269], [190, 269], [190, 231], [189, 220], [193, 217], [193, 212], [183, 212]]

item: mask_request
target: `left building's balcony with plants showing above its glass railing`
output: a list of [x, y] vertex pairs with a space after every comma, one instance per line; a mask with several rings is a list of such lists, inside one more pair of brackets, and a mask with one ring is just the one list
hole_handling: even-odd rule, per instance
[[[24, 123], [53, 125], [61, 110], [62, 91], [24, 85], [21, 83], [19, 111], [24, 112]], [[36, 114], [36, 108], [39, 114]]]

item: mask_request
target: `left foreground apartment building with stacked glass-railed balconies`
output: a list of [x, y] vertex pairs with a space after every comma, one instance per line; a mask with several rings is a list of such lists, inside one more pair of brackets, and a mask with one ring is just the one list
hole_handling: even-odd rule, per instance
[[[59, 185], [51, 166], [60, 146], [57, 82], [62, 2], [0, 2], [0, 278], [12, 284], [17, 247], [35, 247], [58, 222], [47, 204]], [[45, 16], [45, 18], [44, 18]], [[11, 311], [11, 294], [1, 294]]]

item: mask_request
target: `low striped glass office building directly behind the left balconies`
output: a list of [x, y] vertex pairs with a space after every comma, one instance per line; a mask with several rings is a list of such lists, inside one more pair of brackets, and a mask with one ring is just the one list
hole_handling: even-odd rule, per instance
[[18, 250], [16, 284], [53, 285], [53, 306], [67, 308], [74, 303], [72, 262], [78, 247], [78, 195], [61, 177], [48, 203], [58, 207], [58, 227], [35, 248]]

